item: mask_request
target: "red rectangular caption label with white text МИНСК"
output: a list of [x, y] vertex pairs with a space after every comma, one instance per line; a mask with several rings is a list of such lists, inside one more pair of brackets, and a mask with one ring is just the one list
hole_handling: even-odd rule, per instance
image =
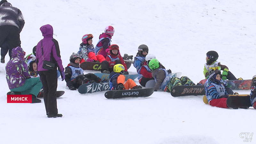
[[32, 103], [32, 95], [14, 94], [7, 95], [7, 103]]

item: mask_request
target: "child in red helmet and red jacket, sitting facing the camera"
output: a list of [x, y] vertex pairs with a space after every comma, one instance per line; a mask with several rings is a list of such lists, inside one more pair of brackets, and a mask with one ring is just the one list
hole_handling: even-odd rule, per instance
[[124, 75], [128, 75], [127, 66], [119, 54], [119, 46], [117, 44], [111, 44], [109, 51], [110, 53], [107, 55], [106, 60], [101, 63], [101, 73], [110, 74], [113, 71], [114, 65], [122, 64], [124, 66]]

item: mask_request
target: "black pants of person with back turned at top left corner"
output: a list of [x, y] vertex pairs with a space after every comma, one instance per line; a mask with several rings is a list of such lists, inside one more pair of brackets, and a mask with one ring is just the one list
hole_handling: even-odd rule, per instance
[[[0, 46], [6, 41], [9, 46], [9, 56], [12, 57], [12, 49], [20, 46], [20, 30], [15, 26], [4, 25], [0, 26]], [[7, 53], [7, 52], [6, 52]], [[1, 56], [5, 56], [6, 53], [2, 53]]]

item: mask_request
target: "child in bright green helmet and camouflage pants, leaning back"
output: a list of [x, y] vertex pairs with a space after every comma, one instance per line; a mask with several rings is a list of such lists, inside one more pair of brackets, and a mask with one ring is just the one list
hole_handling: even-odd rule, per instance
[[195, 85], [187, 76], [172, 77], [166, 69], [160, 67], [156, 59], [150, 60], [148, 67], [152, 70], [152, 77], [156, 81], [155, 91], [160, 88], [164, 92], [171, 92], [172, 88], [177, 85]]

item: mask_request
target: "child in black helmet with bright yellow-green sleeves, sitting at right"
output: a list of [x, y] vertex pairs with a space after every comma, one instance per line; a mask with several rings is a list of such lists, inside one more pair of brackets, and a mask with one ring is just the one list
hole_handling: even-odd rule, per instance
[[[228, 67], [221, 65], [219, 61], [216, 61], [219, 58], [219, 55], [215, 51], [209, 51], [206, 53], [206, 63], [204, 64], [204, 76], [205, 79], [208, 78], [209, 74], [218, 69], [223, 70], [222, 79], [223, 80], [237, 80], [236, 77], [228, 70]], [[239, 78], [239, 80], [242, 78]]]

